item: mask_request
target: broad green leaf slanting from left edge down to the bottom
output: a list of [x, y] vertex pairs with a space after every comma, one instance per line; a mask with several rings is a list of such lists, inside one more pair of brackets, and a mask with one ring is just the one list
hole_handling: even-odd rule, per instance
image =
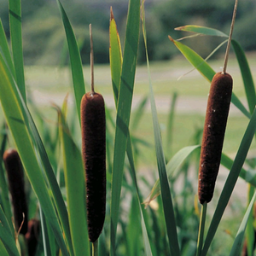
[[[9, 130], [15, 139], [15, 145], [20, 154], [20, 160], [25, 167], [27, 177], [32, 183], [32, 188], [38, 196], [38, 200], [40, 201], [45, 216], [49, 221], [52, 230], [55, 232], [56, 241], [59, 243], [63, 255], [68, 255], [61, 226], [59, 224], [59, 218], [56, 215], [55, 208], [50, 199], [49, 190], [44, 181], [42, 165], [38, 160], [38, 153], [32, 143], [32, 133], [29, 132], [30, 130], [27, 127], [26, 120], [23, 116], [26, 104], [23, 101], [22, 96], [19, 96], [19, 90], [9, 71], [9, 67], [7, 67], [3, 60], [3, 55], [0, 55], [0, 84], [0, 101], [3, 107], [3, 113], [9, 125]], [[23, 102], [23, 105], [21, 105], [21, 102]], [[22, 107], [23, 109], [21, 109]]]

